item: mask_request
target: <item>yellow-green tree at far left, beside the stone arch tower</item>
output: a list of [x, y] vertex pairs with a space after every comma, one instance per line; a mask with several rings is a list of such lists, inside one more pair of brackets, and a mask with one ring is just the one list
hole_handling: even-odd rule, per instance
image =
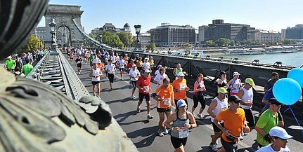
[[30, 36], [30, 39], [21, 46], [21, 48], [17, 51], [17, 53], [24, 53], [31, 50], [38, 50], [39, 47], [44, 47], [42, 41], [34, 35]]

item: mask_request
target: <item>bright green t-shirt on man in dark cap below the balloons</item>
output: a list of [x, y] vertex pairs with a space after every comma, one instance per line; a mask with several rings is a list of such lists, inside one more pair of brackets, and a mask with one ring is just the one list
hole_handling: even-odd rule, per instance
[[[270, 109], [267, 109], [262, 113], [262, 115], [259, 117], [259, 120], [257, 121], [256, 126], [260, 129], [264, 130], [266, 134], [269, 133], [269, 130], [271, 130], [272, 127], [275, 127], [278, 125], [278, 113], [276, 113], [276, 117], [273, 117], [273, 113]], [[257, 133], [257, 142], [259, 144], [262, 144], [263, 146], [269, 145], [271, 143], [264, 141], [263, 136], [259, 133]]]

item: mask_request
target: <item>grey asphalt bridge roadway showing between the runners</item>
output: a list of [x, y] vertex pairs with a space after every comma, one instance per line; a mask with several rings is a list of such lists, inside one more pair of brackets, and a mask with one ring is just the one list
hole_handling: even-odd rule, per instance
[[[66, 55], [65, 55], [66, 56]], [[75, 60], [75, 59], [74, 59]], [[77, 73], [77, 64], [71, 64], [72, 68]], [[89, 64], [82, 65], [82, 73], [78, 74], [79, 78], [82, 80], [82, 83], [89, 90], [91, 95], [93, 95], [91, 78], [89, 78]], [[171, 78], [171, 81], [173, 79]], [[192, 88], [192, 86], [190, 86]], [[155, 84], [152, 83], [152, 89], [155, 90]], [[191, 99], [193, 91], [188, 93], [188, 107], [191, 111], [193, 106], [193, 100]], [[135, 92], [136, 97], [138, 97], [138, 91]], [[113, 90], [110, 91], [110, 86], [108, 79], [103, 77], [101, 78], [101, 99], [104, 102], [109, 104], [110, 109], [112, 110], [113, 117], [117, 120], [117, 123], [122, 127], [124, 132], [127, 133], [127, 136], [133, 141], [133, 143], [138, 148], [138, 151], [150, 152], [150, 151], [174, 151], [174, 148], [170, 141], [169, 134], [164, 137], [159, 137], [157, 135], [157, 124], [158, 116], [157, 110], [155, 108], [155, 100], [151, 99], [151, 114], [154, 117], [151, 120], [146, 119], [146, 103], [143, 101], [141, 105], [141, 113], [136, 113], [136, 105], [138, 102], [137, 99], [129, 98], [131, 96], [131, 89], [129, 88], [129, 78], [126, 73], [124, 73], [124, 81], [120, 79], [120, 71], [116, 71], [115, 81], [113, 83]], [[206, 96], [206, 103], [209, 105], [209, 102], [214, 97]], [[198, 113], [198, 108], [195, 109], [195, 114]], [[210, 143], [210, 134], [213, 133], [212, 125], [210, 122], [210, 116], [207, 114], [207, 108], [203, 111], [205, 119], [197, 120], [198, 127], [195, 127], [191, 130], [188, 141], [186, 144], [186, 151], [212, 151], [209, 148]], [[259, 114], [257, 111], [254, 112], [256, 117]], [[301, 123], [302, 124], [302, 123]], [[303, 138], [302, 131], [298, 129], [297, 123], [294, 118], [285, 118], [285, 127], [289, 134], [294, 136], [294, 139], [288, 141], [288, 146], [291, 151], [302, 151], [303, 147]], [[240, 141], [238, 144], [238, 151], [256, 151], [257, 143], [256, 131], [252, 130], [248, 135], [244, 136], [243, 141]], [[221, 146], [220, 141], [218, 147]]]

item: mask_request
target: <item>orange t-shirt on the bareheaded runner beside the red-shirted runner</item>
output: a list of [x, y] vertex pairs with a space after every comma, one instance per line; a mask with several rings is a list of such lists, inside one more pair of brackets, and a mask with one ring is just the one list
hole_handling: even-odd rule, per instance
[[155, 90], [158, 97], [164, 99], [162, 101], [157, 101], [157, 108], [169, 108], [174, 104], [174, 91], [172, 85], [168, 85], [167, 88], [162, 87], [162, 85]]

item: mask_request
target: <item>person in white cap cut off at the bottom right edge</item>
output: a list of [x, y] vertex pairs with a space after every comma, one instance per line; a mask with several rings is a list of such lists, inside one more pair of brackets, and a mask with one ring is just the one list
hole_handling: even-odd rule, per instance
[[271, 142], [271, 144], [259, 148], [257, 152], [290, 152], [290, 148], [286, 145], [288, 144], [288, 139], [291, 138], [292, 136], [283, 127], [273, 127], [269, 131], [269, 134], [264, 136], [264, 139]]

